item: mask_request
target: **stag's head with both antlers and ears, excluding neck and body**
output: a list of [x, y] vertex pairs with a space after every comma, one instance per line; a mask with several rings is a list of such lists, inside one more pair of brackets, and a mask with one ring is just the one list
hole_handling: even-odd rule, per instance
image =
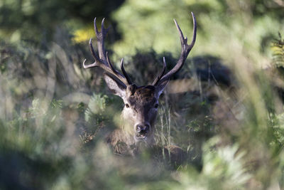
[[109, 89], [124, 100], [124, 110], [122, 111], [122, 118], [124, 119], [124, 130], [130, 131], [131, 136], [135, 141], [146, 141], [148, 143], [153, 142], [153, 125], [158, 112], [158, 99], [160, 94], [163, 93], [165, 86], [167, 85], [170, 77], [177, 73], [190, 53], [192, 47], [195, 44], [196, 38], [196, 21], [193, 13], [193, 37], [190, 45], [187, 44], [187, 38], [183, 36], [180, 26], [175, 21], [175, 26], [178, 29], [181, 43], [181, 54], [175, 67], [168, 73], [165, 73], [165, 58], [163, 58], [163, 69], [161, 73], [155, 78], [151, 85], [138, 86], [132, 83], [129, 75], [124, 70], [124, 60], [121, 59], [121, 71], [114, 68], [109, 60], [107, 51], [104, 50], [104, 38], [107, 36], [109, 28], [104, 28], [104, 19], [102, 20], [102, 30], [97, 30], [96, 19], [94, 19], [94, 31], [97, 36], [97, 46], [99, 51], [99, 57], [94, 52], [92, 46], [92, 38], [89, 40], [89, 48], [92, 56], [94, 57], [94, 63], [85, 65], [84, 68], [100, 67], [104, 73], [104, 80], [106, 81]]

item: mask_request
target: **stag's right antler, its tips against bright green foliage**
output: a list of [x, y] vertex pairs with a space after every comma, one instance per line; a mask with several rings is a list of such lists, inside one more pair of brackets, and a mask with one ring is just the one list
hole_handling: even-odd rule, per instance
[[175, 26], [178, 29], [178, 33], [180, 34], [180, 43], [182, 46], [182, 53], [180, 54], [180, 58], [178, 59], [178, 63], [175, 65], [174, 68], [172, 68], [172, 70], [170, 70], [168, 73], [165, 74], [165, 58], [163, 58], [163, 72], [158, 75], [157, 78], [155, 78], [153, 85], [159, 85], [161, 83], [163, 83], [166, 80], [169, 80], [170, 77], [172, 75], [174, 75], [175, 73], [177, 73], [180, 68], [182, 68], [182, 65], [185, 63], [185, 60], [188, 56], [188, 54], [190, 53], [192, 47], [195, 45], [195, 39], [196, 39], [196, 20], [195, 20], [195, 15], [191, 12], [192, 15], [192, 20], [193, 20], [193, 37], [192, 37], [192, 41], [190, 43], [190, 45], [187, 44], [187, 37], [183, 37], [182, 31], [180, 30], [180, 26], [178, 26], [177, 21], [175, 21]]

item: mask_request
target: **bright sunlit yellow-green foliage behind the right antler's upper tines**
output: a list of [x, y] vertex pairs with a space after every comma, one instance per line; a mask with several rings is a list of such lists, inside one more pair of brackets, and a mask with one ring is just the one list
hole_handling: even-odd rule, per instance
[[114, 44], [114, 52], [121, 57], [135, 54], [136, 49], [153, 48], [157, 53], [167, 51], [178, 57], [180, 42], [173, 19], [190, 40], [190, 11], [195, 13], [198, 25], [197, 42], [191, 55], [221, 56], [237, 63], [233, 52], [244, 48], [251, 61], [266, 65], [265, 57], [270, 53], [267, 39], [283, 30], [283, 19], [280, 19], [283, 11], [273, 2], [129, 0], [112, 16], [122, 34], [121, 40]]

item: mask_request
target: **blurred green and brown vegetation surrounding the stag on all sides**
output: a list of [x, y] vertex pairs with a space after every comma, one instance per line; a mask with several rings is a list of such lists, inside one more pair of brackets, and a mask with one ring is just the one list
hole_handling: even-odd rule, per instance
[[[123, 102], [82, 68], [94, 17], [146, 85], [180, 55], [173, 19], [192, 38], [191, 11], [197, 41], [155, 125], [188, 162], [114, 155]], [[283, 18], [283, 0], [0, 0], [0, 189], [284, 189]]]

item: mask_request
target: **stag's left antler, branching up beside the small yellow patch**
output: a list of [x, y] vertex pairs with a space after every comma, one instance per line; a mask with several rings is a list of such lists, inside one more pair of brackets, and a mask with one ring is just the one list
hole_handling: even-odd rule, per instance
[[92, 45], [92, 38], [89, 39], [89, 49], [92, 52], [92, 56], [94, 57], [94, 63], [85, 65], [87, 59], [84, 60], [83, 66], [84, 68], [93, 68], [93, 67], [100, 67], [103, 70], [105, 70], [107, 73], [110, 73], [111, 75], [114, 75], [116, 78], [118, 78], [124, 85], [132, 85], [132, 82], [129, 78], [129, 75], [127, 75], [126, 71], [124, 70], [124, 59], [121, 59], [121, 71], [123, 74], [119, 73], [118, 70], [114, 68], [114, 66], [111, 64], [111, 61], [109, 60], [108, 53], [104, 50], [104, 38], [107, 36], [107, 32], [109, 31], [109, 28], [104, 28], [104, 19], [102, 19], [102, 30], [99, 32], [97, 30], [96, 25], [96, 19], [94, 18], [94, 32], [97, 36], [97, 46], [99, 51], [99, 57], [94, 53], [94, 48]]

